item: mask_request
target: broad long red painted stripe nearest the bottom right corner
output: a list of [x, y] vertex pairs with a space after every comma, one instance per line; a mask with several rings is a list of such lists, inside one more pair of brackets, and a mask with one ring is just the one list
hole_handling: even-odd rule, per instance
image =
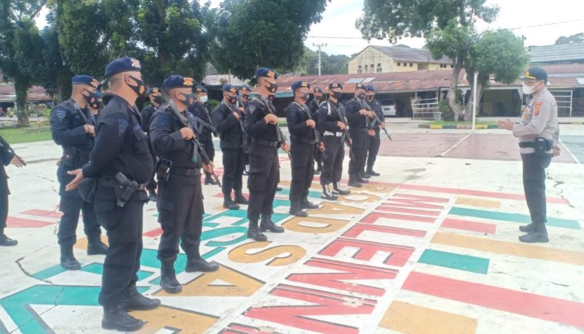
[[403, 289], [584, 328], [584, 304], [524, 291], [411, 272]]

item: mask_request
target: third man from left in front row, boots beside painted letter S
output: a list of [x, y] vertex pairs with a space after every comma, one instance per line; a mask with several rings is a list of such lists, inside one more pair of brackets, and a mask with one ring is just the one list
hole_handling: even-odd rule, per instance
[[[255, 77], [258, 80], [258, 95], [251, 99], [245, 108], [245, 131], [249, 136], [247, 237], [256, 241], [266, 241], [267, 237], [262, 231], [284, 232], [284, 228], [272, 222], [271, 215], [273, 198], [280, 180], [278, 147], [289, 152], [289, 145], [278, 128], [276, 108], [268, 99], [270, 94], [275, 94], [278, 90], [276, 83], [278, 75], [272, 69], [261, 67], [256, 70]], [[262, 221], [258, 227], [260, 213]]]

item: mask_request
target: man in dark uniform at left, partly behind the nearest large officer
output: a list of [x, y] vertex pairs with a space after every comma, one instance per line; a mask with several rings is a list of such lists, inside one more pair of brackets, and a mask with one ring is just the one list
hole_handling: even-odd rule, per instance
[[73, 176], [67, 174], [67, 171], [85, 165], [93, 150], [96, 120], [88, 107], [98, 99], [96, 91], [100, 84], [89, 75], [76, 75], [71, 83], [71, 98], [53, 108], [49, 120], [53, 141], [63, 147], [63, 157], [57, 169], [60, 184], [59, 210], [63, 213], [57, 232], [60, 263], [67, 270], [79, 270], [81, 265], [73, 254], [73, 245], [77, 241], [75, 232], [79, 211], [82, 213], [83, 230], [88, 240], [87, 254], [106, 254], [107, 246], [100, 239], [102, 231], [96, 214], [93, 213], [93, 204], [85, 202], [77, 191], [65, 191], [67, 183], [73, 180]]

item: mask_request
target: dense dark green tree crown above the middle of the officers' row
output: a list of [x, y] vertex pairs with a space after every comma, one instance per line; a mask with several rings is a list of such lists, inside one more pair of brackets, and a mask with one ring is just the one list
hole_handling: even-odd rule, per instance
[[325, 8], [326, 0], [223, 1], [212, 27], [213, 64], [240, 78], [253, 77], [260, 66], [290, 71]]

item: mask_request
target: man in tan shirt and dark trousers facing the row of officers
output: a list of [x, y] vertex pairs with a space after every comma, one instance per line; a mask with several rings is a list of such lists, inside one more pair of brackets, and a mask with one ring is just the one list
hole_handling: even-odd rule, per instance
[[546, 168], [559, 156], [558, 106], [548, 91], [548, 73], [532, 67], [520, 78], [525, 94], [532, 95], [521, 121], [498, 121], [499, 128], [513, 131], [519, 139], [523, 160], [523, 184], [531, 223], [520, 226], [521, 242], [548, 242], [546, 229]]

